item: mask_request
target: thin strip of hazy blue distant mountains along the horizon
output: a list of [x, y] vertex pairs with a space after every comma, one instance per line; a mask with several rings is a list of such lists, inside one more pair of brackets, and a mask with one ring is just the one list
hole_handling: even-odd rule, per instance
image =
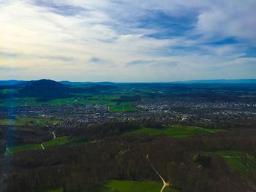
[[[23, 80], [0, 80], [0, 86], [10, 86], [10, 85], [26, 85], [31, 82], [37, 81], [23, 81]], [[70, 82], [70, 81], [60, 81], [59, 83], [63, 85], [115, 85], [121, 82]], [[136, 82], [127, 82], [136, 83]], [[140, 82], [141, 83], [141, 82]], [[145, 83], [159, 83], [159, 82], [145, 82]], [[160, 82], [160, 83], [181, 83], [181, 84], [256, 84], [256, 79], [237, 79], [237, 80], [187, 80], [187, 81], [174, 81], [174, 82]], [[126, 83], [125, 83], [126, 84]]]

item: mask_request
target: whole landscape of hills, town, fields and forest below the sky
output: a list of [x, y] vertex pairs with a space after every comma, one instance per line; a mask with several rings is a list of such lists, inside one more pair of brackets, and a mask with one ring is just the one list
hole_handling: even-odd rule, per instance
[[255, 191], [255, 98], [253, 82], [2, 82], [0, 190]]

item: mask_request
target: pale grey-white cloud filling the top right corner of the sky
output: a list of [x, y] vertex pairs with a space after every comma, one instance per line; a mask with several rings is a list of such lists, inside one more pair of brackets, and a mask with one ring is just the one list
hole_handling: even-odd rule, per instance
[[209, 37], [236, 37], [256, 45], [256, 1], [222, 1], [198, 16], [197, 32]]

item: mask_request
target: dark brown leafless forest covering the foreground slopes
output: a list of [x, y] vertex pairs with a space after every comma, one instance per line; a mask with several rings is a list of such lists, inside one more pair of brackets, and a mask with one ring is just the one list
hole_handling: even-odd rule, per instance
[[[255, 190], [255, 172], [248, 171], [248, 177], [241, 177], [230, 172], [219, 156], [203, 153], [238, 150], [256, 155], [255, 130], [233, 130], [183, 139], [121, 134], [136, 126], [137, 123], [112, 123], [77, 128], [72, 130], [71, 139], [86, 141], [90, 137], [98, 142], [2, 156], [1, 167], [10, 172], [2, 181], [7, 185], [6, 191], [33, 192], [48, 187], [86, 191], [110, 179], [158, 181], [146, 155], [162, 177], [180, 191]], [[249, 161], [246, 155], [241, 158], [246, 166]]]

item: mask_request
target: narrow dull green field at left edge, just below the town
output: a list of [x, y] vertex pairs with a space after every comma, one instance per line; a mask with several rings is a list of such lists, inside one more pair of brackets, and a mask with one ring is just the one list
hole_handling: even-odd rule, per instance
[[47, 120], [42, 118], [0, 119], [1, 126], [46, 126], [47, 124], [54, 123], [58, 123], [58, 120]]

